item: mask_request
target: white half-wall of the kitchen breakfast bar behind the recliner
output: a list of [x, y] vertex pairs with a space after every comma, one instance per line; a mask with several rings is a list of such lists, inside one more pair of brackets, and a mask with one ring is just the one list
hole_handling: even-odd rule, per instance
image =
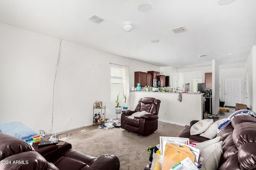
[[161, 100], [158, 117], [159, 121], [177, 125], [187, 125], [192, 120], [203, 119], [203, 94], [182, 93], [182, 101], [178, 100], [179, 93], [173, 92], [144, 92], [132, 91], [128, 101], [129, 109], [134, 109], [138, 100], [153, 97]]

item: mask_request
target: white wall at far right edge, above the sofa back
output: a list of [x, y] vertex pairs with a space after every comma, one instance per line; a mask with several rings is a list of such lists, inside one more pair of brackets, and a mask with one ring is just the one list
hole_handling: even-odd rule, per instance
[[[256, 111], [256, 45], [252, 47], [246, 62], [246, 72], [248, 72], [248, 106], [252, 111]], [[246, 74], [246, 73], [245, 73]]]

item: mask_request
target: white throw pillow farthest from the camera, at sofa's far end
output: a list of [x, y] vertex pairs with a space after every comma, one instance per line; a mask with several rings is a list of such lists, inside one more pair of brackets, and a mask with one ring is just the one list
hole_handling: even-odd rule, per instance
[[196, 122], [190, 128], [190, 135], [198, 135], [206, 131], [208, 127], [213, 123], [213, 119], [203, 119]]

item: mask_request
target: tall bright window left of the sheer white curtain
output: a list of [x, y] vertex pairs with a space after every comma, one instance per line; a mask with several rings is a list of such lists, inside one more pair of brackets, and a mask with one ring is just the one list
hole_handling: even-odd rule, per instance
[[122, 66], [111, 66], [111, 100], [124, 99], [123, 68]]

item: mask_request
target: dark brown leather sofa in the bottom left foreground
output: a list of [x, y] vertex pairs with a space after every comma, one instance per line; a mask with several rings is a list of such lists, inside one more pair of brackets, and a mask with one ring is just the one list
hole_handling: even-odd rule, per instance
[[96, 158], [71, 149], [69, 143], [40, 148], [38, 144], [34, 144], [34, 147], [30, 146], [25, 141], [0, 131], [0, 170], [119, 170], [120, 168], [119, 159], [115, 155], [106, 154]]

